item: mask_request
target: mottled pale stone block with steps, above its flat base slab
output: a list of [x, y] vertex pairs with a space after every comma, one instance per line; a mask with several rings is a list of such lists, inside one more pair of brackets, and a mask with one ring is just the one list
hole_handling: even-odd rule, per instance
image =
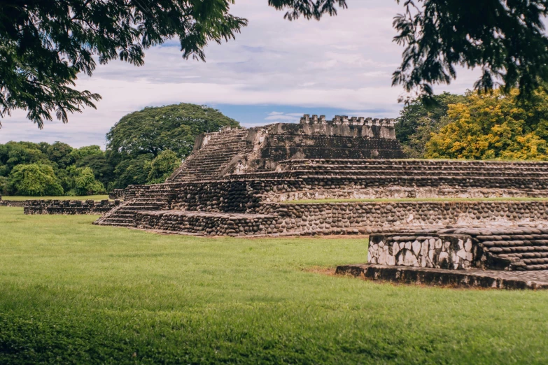
[[367, 263], [436, 269], [547, 270], [548, 229], [461, 228], [375, 234], [370, 237]]

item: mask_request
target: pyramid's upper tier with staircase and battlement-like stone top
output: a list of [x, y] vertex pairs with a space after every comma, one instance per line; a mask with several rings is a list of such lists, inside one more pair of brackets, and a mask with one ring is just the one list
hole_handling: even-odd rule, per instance
[[216, 179], [229, 173], [274, 171], [287, 159], [402, 158], [394, 120], [304, 115], [300, 123], [202, 134], [192, 155], [167, 182]]

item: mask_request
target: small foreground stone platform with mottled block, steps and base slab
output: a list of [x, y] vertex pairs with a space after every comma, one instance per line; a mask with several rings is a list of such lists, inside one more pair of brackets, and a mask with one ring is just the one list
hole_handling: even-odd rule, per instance
[[548, 228], [501, 226], [374, 234], [367, 263], [339, 266], [337, 273], [398, 282], [548, 289]]

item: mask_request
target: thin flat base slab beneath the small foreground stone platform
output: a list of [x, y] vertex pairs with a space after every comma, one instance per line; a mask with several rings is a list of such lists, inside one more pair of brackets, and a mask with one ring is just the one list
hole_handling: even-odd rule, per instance
[[337, 266], [339, 275], [402, 284], [484, 287], [493, 289], [548, 289], [548, 270], [447, 270], [409, 266], [356, 264]]

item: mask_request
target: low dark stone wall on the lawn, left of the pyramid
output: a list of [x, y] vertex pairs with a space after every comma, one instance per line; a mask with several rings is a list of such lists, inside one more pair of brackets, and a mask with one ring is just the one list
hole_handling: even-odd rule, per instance
[[119, 204], [118, 200], [27, 200], [24, 214], [104, 214]]

